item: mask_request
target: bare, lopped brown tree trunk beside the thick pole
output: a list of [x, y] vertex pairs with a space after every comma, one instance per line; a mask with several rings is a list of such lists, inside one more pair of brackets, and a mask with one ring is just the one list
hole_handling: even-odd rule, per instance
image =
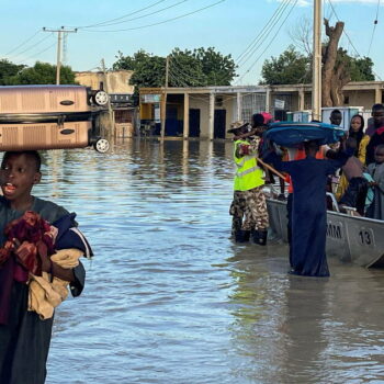
[[[323, 106], [334, 106], [340, 105], [340, 94], [337, 95], [339, 91], [337, 87], [335, 87], [340, 86], [340, 83], [335, 83], [336, 78], [338, 80], [340, 79], [336, 76], [337, 70], [335, 69], [338, 55], [338, 44], [342, 34], [342, 30], [345, 27], [345, 23], [339, 21], [336, 23], [335, 26], [329, 26], [328, 20], [324, 19], [324, 25], [326, 27], [326, 35], [329, 37], [329, 42], [328, 45], [325, 47], [323, 54], [321, 100]], [[332, 94], [335, 99], [332, 98]]]

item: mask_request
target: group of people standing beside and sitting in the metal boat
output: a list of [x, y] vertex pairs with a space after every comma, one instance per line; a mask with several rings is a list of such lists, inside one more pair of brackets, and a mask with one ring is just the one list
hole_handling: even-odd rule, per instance
[[[334, 110], [330, 123], [340, 125], [342, 114]], [[384, 105], [374, 104], [364, 131], [364, 118], [354, 115], [338, 145], [319, 146], [316, 140], [297, 148], [278, 148], [263, 143], [268, 129], [262, 114], [252, 124], [235, 123], [236, 174], [231, 234], [237, 242], [267, 244], [269, 217], [263, 187], [270, 181], [269, 165], [289, 181], [287, 233], [291, 273], [328, 276], [326, 259], [326, 192], [339, 173], [336, 196], [340, 211], [352, 207], [362, 216], [384, 219]], [[266, 149], [268, 148], [268, 149]], [[281, 192], [284, 182], [281, 182]]]

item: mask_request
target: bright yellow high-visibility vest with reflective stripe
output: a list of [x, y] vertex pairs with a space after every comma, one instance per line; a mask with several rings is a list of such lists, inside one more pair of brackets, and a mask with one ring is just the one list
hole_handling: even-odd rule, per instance
[[263, 176], [264, 172], [257, 166], [256, 155], [246, 155], [242, 157], [236, 157], [236, 148], [240, 144], [249, 145], [245, 140], [236, 140], [234, 149], [234, 159], [237, 166], [234, 190], [235, 191], [249, 191], [256, 187], [264, 184]]

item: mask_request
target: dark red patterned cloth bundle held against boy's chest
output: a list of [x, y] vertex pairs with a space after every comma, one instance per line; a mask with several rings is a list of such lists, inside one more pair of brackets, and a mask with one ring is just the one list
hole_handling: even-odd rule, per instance
[[37, 213], [27, 211], [7, 225], [7, 241], [0, 248], [0, 266], [13, 253], [27, 271], [42, 275], [42, 259], [53, 255], [54, 236], [49, 223]]

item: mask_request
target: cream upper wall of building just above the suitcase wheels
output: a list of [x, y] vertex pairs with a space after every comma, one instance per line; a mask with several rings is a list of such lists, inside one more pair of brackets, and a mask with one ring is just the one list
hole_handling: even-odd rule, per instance
[[[129, 86], [129, 79], [133, 75], [132, 70], [116, 70], [106, 72], [109, 93], [134, 93], [134, 87]], [[103, 89], [106, 90], [105, 76], [103, 72], [77, 72], [75, 80], [86, 87], [90, 87], [93, 90]]]

